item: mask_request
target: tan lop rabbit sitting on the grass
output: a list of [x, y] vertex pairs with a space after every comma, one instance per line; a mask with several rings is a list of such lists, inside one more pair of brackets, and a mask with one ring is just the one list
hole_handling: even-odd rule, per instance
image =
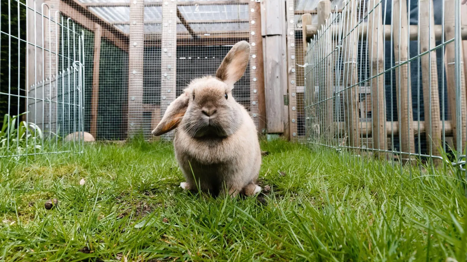
[[164, 113], [152, 131], [155, 136], [175, 129], [175, 157], [186, 190], [212, 195], [261, 191], [256, 185], [261, 150], [253, 119], [232, 96], [233, 84], [248, 65], [250, 45], [236, 43], [216, 71], [216, 76], [194, 79]]

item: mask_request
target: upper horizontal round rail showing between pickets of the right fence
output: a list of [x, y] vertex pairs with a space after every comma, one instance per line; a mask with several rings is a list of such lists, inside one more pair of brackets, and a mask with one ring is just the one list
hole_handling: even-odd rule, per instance
[[[304, 30], [306, 28], [306, 30]], [[418, 26], [417, 25], [410, 25], [410, 41], [417, 41], [418, 40]], [[339, 35], [339, 24], [335, 24], [331, 27], [333, 35]], [[363, 34], [363, 39], [366, 39], [367, 37], [367, 22], [361, 23], [361, 26], [359, 28], [356, 28], [355, 30], [358, 30], [359, 38], [362, 37]], [[385, 40], [391, 40], [391, 25], [384, 25], [384, 29], [380, 29], [384, 31], [384, 39]], [[394, 29], [393, 29], [394, 30]], [[434, 25], [433, 27], [434, 34], [435, 34], [435, 40], [440, 41], [441, 40], [441, 35], [442, 35], [442, 26], [441, 25]], [[302, 25], [302, 31], [306, 32], [306, 36], [308, 38], [312, 37], [313, 35], [318, 33], [318, 25], [310, 25], [306, 24], [306, 27], [303, 27]], [[460, 34], [462, 36], [462, 40], [467, 40], [467, 27], [461, 27], [460, 28]], [[447, 40], [447, 39], [446, 39]]]

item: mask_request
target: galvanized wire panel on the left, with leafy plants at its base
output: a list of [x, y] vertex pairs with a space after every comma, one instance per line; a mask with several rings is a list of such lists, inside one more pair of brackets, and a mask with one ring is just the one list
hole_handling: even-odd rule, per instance
[[1, 2], [0, 157], [81, 151], [84, 35], [47, 4]]

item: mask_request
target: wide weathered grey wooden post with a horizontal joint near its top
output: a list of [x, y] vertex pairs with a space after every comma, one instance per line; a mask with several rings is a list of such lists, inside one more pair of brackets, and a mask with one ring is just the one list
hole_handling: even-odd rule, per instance
[[267, 54], [264, 56], [264, 94], [268, 133], [286, 131], [284, 115], [288, 111], [284, 109], [284, 90], [287, 89], [284, 9], [282, 0], [261, 1], [261, 33], [264, 37], [263, 50]]

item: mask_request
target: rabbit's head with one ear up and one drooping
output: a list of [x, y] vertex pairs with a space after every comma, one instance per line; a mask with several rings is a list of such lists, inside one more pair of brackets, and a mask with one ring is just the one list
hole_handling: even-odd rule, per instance
[[242, 122], [241, 105], [232, 96], [233, 84], [243, 76], [248, 65], [250, 45], [236, 43], [217, 69], [216, 76], [191, 81], [177, 97], [152, 131], [160, 136], [178, 127], [193, 138], [227, 137]]

